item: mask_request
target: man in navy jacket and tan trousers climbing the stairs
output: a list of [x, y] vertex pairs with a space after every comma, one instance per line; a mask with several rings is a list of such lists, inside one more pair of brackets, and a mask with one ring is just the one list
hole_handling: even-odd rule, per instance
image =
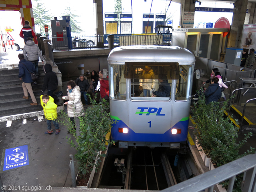
[[31, 78], [31, 74], [30, 74], [30, 72], [36, 72], [36, 68], [32, 62], [24, 59], [23, 54], [19, 54], [18, 57], [20, 59], [20, 62], [19, 62], [20, 64], [18, 65], [20, 72], [19, 72], [18, 77], [20, 78], [20, 80], [23, 80], [23, 83], [22, 83], [22, 88], [23, 88], [23, 92], [24, 92], [23, 98], [28, 100], [28, 93], [29, 93], [30, 97], [32, 99], [32, 102], [33, 102], [33, 103], [30, 103], [30, 105], [37, 106], [37, 101], [34, 96], [32, 86], [31, 86], [31, 83], [33, 82], [33, 80]]

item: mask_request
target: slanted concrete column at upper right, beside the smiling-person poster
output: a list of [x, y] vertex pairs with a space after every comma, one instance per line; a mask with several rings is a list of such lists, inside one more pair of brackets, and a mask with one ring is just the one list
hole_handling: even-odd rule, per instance
[[247, 4], [248, 4], [248, 0], [237, 0], [234, 3], [232, 26], [230, 30], [230, 38], [228, 40], [227, 47], [240, 46]]

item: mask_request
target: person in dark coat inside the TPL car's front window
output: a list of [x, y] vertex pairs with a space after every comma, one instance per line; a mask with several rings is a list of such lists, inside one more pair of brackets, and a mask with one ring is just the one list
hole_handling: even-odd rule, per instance
[[160, 82], [160, 86], [157, 91], [153, 92], [153, 97], [170, 97], [171, 86], [167, 80], [167, 76], [165, 74], [159, 74], [158, 81]]

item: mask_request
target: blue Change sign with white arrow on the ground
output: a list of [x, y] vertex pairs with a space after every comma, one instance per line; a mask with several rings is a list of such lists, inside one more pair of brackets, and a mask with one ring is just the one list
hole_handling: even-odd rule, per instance
[[5, 150], [3, 171], [29, 165], [28, 145]]

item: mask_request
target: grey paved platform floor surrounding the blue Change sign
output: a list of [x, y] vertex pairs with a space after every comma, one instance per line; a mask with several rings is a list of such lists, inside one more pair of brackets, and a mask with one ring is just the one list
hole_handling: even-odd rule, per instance
[[[13, 120], [10, 127], [7, 122], [0, 122], [0, 156], [1, 177], [4, 185], [16, 186], [52, 186], [63, 187], [69, 168], [69, 155], [76, 150], [70, 148], [66, 137], [71, 137], [67, 129], [60, 125], [60, 134], [44, 134], [47, 130], [46, 120], [40, 122], [38, 117]], [[54, 126], [52, 125], [52, 128]], [[7, 148], [28, 145], [29, 165], [3, 170], [3, 152]], [[69, 172], [66, 187], [72, 184]]]

